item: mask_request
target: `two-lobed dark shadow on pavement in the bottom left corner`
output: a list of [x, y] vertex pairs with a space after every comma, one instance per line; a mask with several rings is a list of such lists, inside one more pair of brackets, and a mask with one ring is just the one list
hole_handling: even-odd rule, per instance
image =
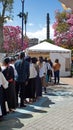
[[32, 118], [31, 114], [14, 112], [4, 117], [0, 122], [0, 130], [13, 130], [13, 128], [22, 128], [24, 126], [20, 119]]

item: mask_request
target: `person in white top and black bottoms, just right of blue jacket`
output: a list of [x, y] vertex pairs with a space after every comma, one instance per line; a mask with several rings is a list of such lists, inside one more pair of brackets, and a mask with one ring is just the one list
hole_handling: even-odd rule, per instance
[[30, 88], [30, 98], [29, 102], [36, 101], [36, 77], [37, 77], [37, 71], [35, 68], [36, 58], [33, 57], [30, 60], [30, 71], [29, 71], [29, 83], [28, 86]]

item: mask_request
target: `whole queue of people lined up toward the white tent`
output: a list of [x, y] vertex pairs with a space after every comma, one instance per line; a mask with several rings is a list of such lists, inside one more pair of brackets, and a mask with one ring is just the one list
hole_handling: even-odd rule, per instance
[[60, 81], [58, 59], [52, 63], [50, 59], [26, 57], [24, 52], [20, 52], [17, 59], [4, 58], [0, 67], [0, 118], [17, 107], [26, 107], [27, 102], [35, 102], [42, 97], [42, 91], [47, 93], [53, 74], [54, 83]]

